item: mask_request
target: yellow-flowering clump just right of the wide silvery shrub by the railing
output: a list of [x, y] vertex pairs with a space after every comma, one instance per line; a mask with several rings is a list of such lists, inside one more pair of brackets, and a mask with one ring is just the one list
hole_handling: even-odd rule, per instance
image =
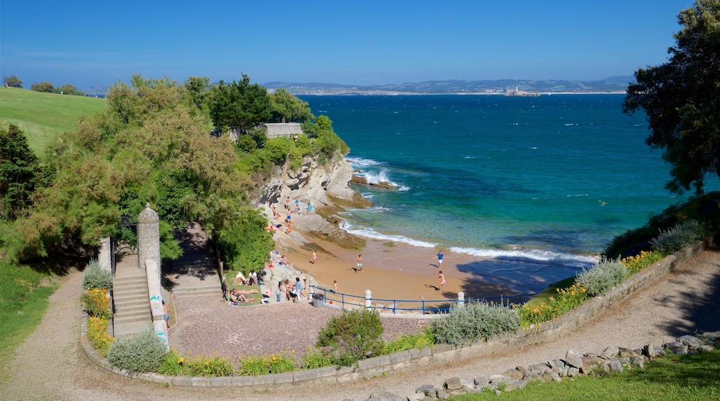
[[531, 327], [539, 323], [552, 321], [559, 318], [570, 310], [580, 306], [588, 299], [588, 290], [580, 284], [574, 284], [567, 288], [557, 288], [557, 296], [550, 297], [547, 302], [535, 305], [515, 305], [520, 315], [520, 326]]

